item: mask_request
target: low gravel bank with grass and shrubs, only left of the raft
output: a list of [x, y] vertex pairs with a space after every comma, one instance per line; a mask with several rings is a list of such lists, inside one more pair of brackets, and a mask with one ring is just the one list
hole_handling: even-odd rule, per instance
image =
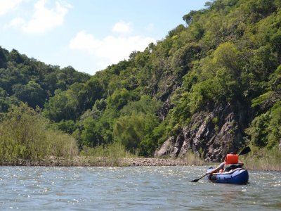
[[23, 166], [174, 166], [174, 165], [204, 165], [201, 158], [192, 152], [183, 158], [139, 158], [128, 153], [122, 144], [115, 142], [96, 148], [84, 147], [79, 155], [72, 157], [46, 156], [42, 159], [8, 159], [1, 165]]

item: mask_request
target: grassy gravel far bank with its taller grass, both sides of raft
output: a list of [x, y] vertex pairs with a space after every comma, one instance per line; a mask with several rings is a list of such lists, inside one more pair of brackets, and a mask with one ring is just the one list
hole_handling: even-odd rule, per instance
[[[75, 155], [72, 158], [49, 156], [41, 160], [25, 160], [15, 159], [2, 161], [0, 165], [23, 165], [23, 166], [174, 166], [174, 165], [206, 165], [216, 167], [219, 163], [203, 162], [195, 155], [186, 155], [184, 158], [138, 158], [132, 155], [119, 156], [115, 153], [103, 149], [103, 153], [100, 150], [94, 149], [90, 151], [96, 152], [84, 152], [84, 155]], [[98, 151], [98, 153], [97, 153]], [[121, 153], [122, 154], [122, 153]], [[124, 155], [124, 154], [123, 154]], [[280, 156], [280, 153], [277, 153]], [[242, 158], [244, 167], [247, 170], [275, 170], [280, 171], [281, 165], [279, 163], [281, 158], [273, 155], [266, 155], [259, 157], [258, 155], [247, 155]], [[278, 160], [279, 159], [279, 160]], [[207, 169], [207, 167], [206, 167]]]

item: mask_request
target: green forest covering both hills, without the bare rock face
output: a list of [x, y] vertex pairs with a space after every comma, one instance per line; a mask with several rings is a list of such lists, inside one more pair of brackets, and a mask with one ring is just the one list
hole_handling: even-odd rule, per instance
[[[207, 1], [183, 21], [93, 76], [0, 48], [1, 159], [72, 156], [112, 143], [152, 157], [218, 106], [239, 119], [225, 151], [279, 150], [281, 1]], [[225, 123], [219, 115], [204, 121], [215, 135]], [[188, 149], [207, 158], [204, 143]]]

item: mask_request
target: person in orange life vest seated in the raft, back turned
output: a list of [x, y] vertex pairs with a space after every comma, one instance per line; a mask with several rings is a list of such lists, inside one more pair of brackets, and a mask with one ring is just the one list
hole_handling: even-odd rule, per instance
[[221, 162], [216, 169], [209, 172], [209, 174], [214, 174], [217, 172], [229, 172], [230, 170], [234, 170], [236, 168], [242, 168], [244, 165], [243, 162], [239, 160], [239, 155], [231, 152], [226, 155], [224, 162]]

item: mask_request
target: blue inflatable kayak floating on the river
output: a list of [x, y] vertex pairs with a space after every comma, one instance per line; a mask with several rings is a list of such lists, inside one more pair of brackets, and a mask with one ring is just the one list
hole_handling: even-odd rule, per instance
[[[214, 168], [210, 167], [207, 170], [207, 173], [211, 172], [211, 170], [214, 170]], [[249, 181], [249, 174], [247, 170], [237, 168], [235, 170], [231, 170], [230, 172], [208, 174], [207, 178], [209, 181], [214, 183], [247, 184]]]

